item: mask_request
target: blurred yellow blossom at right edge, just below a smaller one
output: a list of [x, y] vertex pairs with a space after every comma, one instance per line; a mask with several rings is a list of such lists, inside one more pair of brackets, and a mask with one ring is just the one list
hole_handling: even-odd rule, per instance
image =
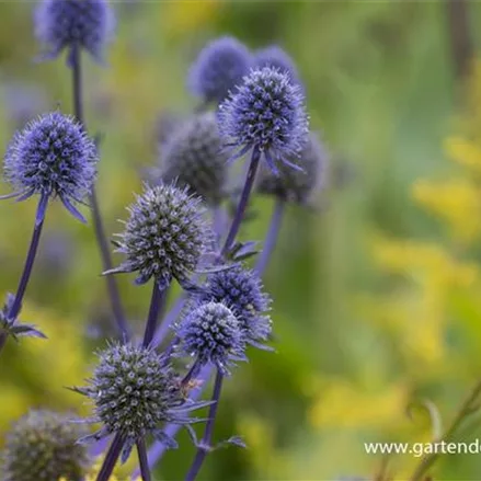
[[470, 244], [481, 232], [481, 192], [468, 179], [431, 182], [421, 180], [412, 188], [414, 199], [440, 218], [450, 236]]

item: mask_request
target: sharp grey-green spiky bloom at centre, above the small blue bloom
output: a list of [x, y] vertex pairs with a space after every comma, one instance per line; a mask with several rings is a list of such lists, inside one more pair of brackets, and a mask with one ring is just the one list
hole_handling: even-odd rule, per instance
[[130, 216], [116, 242], [117, 252], [127, 259], [106, 274], [138, 272], [137, 284], [153, 277], [161, 289], [172, 278], [187, 285], [213, 247], [201, 198], [174, 184], [146, 186], [128, 210]]

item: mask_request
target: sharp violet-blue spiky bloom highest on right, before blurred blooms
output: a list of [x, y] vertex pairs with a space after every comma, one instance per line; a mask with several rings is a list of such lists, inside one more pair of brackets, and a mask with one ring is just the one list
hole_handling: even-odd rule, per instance
[[252, 70], [219, 106], [218, 122], [226, 145], [240, 149], [232, 159], [257, 149], [274, 172], [276, 162], [299, 169], [288, 159], [299, 156], [309, 122], [302, 91], [286, 73]]

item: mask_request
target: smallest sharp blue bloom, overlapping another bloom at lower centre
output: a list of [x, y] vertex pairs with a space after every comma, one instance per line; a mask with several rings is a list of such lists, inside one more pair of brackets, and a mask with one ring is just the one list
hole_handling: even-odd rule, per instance
[[211, 363], [228, 375], [233, 362], [245, 359], [240, 322], [224, 304], [210, 301], [190, 306], [188, 312], [174, 329], [181, 341], [181, 353], [196, 358], [197, 373]]

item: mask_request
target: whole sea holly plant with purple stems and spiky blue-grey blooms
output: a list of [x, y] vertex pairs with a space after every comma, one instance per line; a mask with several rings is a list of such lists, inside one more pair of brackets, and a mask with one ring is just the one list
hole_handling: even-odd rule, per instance
[[[90, 479], [94, 459], [85, 445], [93, 444], [101, 455], [98, 481], [112, 479], [118, 460], [126, 461], [134, 448], [139, 465], [134, 479], [151, 480], [151, 470], [165, 449], [176, 447], [176, 432], [184, 427], [196, 447], [185, 473], [193, 481], [209, 453], [243, 446], [239, 436], [215, 442], [215, 422], [225, 380], [236, 375], [253, 347], [272, 350], [271, 296], [261, 277], [284, 210], [274, 208], [264, 245], [239, 239], [239, 232], [252, 195], [261, 192], [284, 204], [307, 204], [323, 171], [322, 149], [309, 136], [304, 87], [294, 61], [277, 47], [252, 54], [232, 37], [213, 41], [188, 73], [201, 108], [180, 115], [162, 131], [158, 169], [113, 239], [123, 256], [114, 265], [96, 202], [99, 150], [85, 127], [81, 75], [82, 53], [102, 59], [113, 26], [114, 15], [104, 0], [42, 0], [35, 10], [36, 34], [47, 51], [43, 59], [67, 51], [73, 116], [59, 111], [41, 116], [15, 135], [5, 153], [5, 180], [13, 186], [8, 197], [37, 197], [38, 207], [18, 293], [8, 296], [0, 311], [0, 347], [7, 335], [42, 335], [18, 317], [54, 199], [82, 221], [79, 206], [88, 203], [92, 209], [121, 335], [100, 350], [85, 386], [71, 388], [91, 404], [90, 416], [72, 414], [62, 428], [60, 415], [32, 411], [12, 428], [2, 460], [7, 479], [23, 476], [22, 469], [30, 470], [25, 479]], [[224, 204], [231, 185], [239, 184], [231, 179], [231, 161], [248, 153], [245, 179], [230, 218]], [[260, 250], [252, 270], [248, 263]], [[131, 274], [139, 288], [151, 286], [138, 337], [126, 322], [116, 274]], [[182, 294], [164, 313], [173, 283]], [[202, 400], [211, 378], [213, 394]], [[87, 430], [90, 424], [96, 430]], [[195, 424], [202, 425], [202, 436]], [[42, 455], [37, 463], [32, 453]], [[23, 457], [25, 465], [20, 462]]]

